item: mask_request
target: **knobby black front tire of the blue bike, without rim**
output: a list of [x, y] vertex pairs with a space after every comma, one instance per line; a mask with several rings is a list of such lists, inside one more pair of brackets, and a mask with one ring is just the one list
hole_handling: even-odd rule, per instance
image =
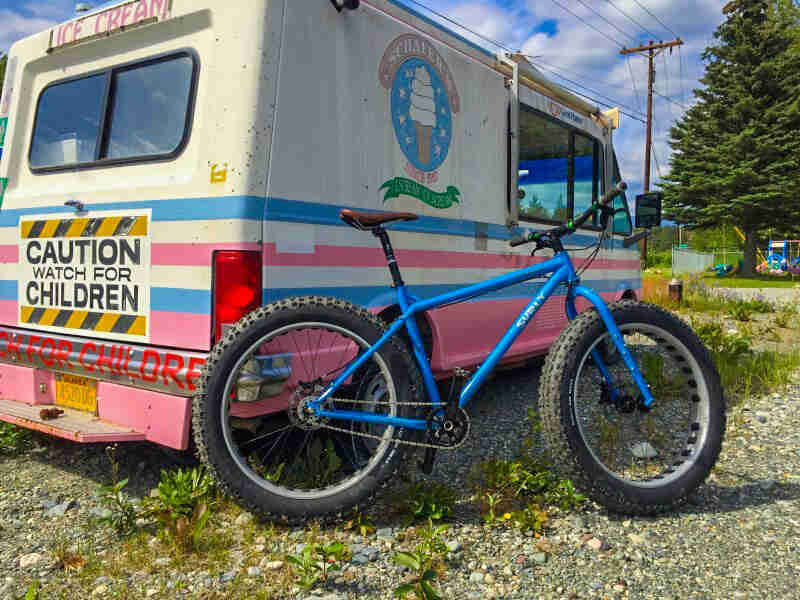
[[572, 385], [580, 360], [601, 335], [607, 333], [596, 310], [585, 311], [561, 333], [550, 349], [542, 371], [539, 410], [542, 429], [554, 467], [573, 480], [587, 496], [608, 510], [629, 515], [653, 515], [675, 509], [705, 481], [722, 449], [725, 402], [719, 373], [697, 334], [661, 307], [622, 300], [610, 304], [614, 320], [649, 323], [672, 334], [694, 356], [709, 394], [709, 421], [705, 443], [686, 473], [658, 487], [639, 487], [612, 477], [596, 462], [573, 418]]

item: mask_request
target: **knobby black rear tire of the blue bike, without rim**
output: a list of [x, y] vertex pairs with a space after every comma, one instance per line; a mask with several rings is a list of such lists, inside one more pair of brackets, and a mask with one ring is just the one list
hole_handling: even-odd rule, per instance
[[[199, 392], [193, 399], [192, 425], [198, 458], [224, 492], [256, 514], [286, 523], [341, 517], [353, 506], [364, 505], [405, 463], [411, 446], [392, 442], [383, 458], [354, 485], [318, 499], [287, 499], [259, 487], [232, 459], [222, 433], [220, 403], [231, 369], [242, 353], [270, 331], [287, 324], [316, 321], [335, 324], [373, 344], [386, 325], [366, 310], [348, 302], [321, 296], [289, 298], [256, 309], [242, 318], [213, 348], [206, 361]], [[421, 379], [405, 344], [396, 336], [378, 351], [386, 361], [398, 402], [420, 402]], [[415, 407], [398, 405], [398, 416], [414, 417]], [[393, 439], [416, 439], [417, 433], [395, 428]]]

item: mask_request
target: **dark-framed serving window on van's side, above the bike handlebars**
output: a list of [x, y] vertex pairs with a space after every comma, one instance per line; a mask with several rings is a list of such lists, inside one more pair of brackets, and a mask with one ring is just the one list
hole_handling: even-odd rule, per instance
[[521, 105], [519, 216], [564, 223], [602, 193], [600, 143]]

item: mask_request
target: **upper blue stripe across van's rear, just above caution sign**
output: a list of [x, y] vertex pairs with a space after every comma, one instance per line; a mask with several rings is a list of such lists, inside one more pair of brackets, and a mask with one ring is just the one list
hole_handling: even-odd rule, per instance
[[[87, 204], [92, 210], [141, 210], [151, 208], [154, 221], [200, 221], [213, 219], [248, 219], [260, 221], [264, 218], [262, 196], [216, 196], [209, 198], [178, 198], [173, 200], [150, 200], [146, 202], [97, 202]], [[31, 208], [3, 209], [0, 211], [0, 227], [16, 227], [19, 218], [26, 215], [72, 213], [63, 204]]]

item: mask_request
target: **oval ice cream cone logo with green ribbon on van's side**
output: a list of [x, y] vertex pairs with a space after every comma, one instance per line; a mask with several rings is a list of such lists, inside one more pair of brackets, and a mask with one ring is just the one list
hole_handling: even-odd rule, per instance
[[436, 192], [425, 184], [439, 181], [438, 169], [453, 141], [453, 119], [461, 101], [450, 68], [434, 45], [416, 34], [395, 39], [381, 60], [381, 85], [389, 90], [395, 137], [408, 162], [406, 174], [381, 186], [384, 202], [408, 195], [434, 208], [459, 202], [455, 186]]

